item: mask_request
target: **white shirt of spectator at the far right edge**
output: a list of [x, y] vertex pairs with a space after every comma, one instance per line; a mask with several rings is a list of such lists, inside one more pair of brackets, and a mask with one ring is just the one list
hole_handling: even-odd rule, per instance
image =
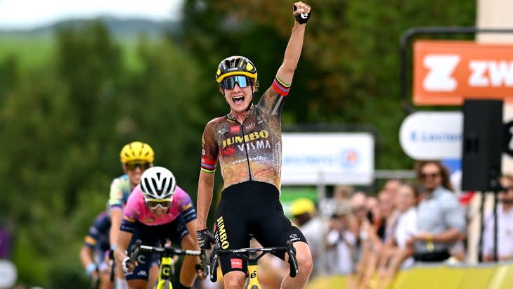
[[[497, 206], [498, 258], [513, 258], [513, 209], [506, 212], [502, 204]], [[493, 213], [488, 214], [483, 229], [483, 255], [493, 256]]]

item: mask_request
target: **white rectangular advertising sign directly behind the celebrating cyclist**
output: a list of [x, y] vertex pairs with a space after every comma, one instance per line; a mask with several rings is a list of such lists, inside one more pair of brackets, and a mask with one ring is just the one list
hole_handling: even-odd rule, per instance
[[370, 133], [282, 134], [282, 184], [370, 184], [374, 137]]

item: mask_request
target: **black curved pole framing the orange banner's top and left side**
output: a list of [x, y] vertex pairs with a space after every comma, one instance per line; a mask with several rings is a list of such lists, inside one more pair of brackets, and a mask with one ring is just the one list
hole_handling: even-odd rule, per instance
[[409, 71], [407, 66], [407, 57], [406, 51], [408, 49], [408, 44], [410, 43], [410, 39], [413, 37], [424, 34], [424, 35], [454, 35], [454, 34], [476, 34], [476, 33], [513, 33], [513, 29], [505, 28], [478, 28], [478, 27], [413, 27], [401, 36], [401, 41], [399, 44], [400, 49], [400, 58], [401, 58], [401, 70], [399, 71], [399, 79], [401, 79], [401, 102], [403, 104], [403, 108], [405, 112], [409, 115], [410, 113], [415, 112], [413, 106], [410, 101], [408, 101], [407, 89], [408, 84], [406, 83], [407, 72]]

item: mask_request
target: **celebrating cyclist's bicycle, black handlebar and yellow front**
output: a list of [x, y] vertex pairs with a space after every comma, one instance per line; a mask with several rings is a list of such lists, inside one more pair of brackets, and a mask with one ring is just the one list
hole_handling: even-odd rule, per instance
[[[250, 255], [255, 254], [257, 252], [261, 252], [257, 257], [251, 257]], [[277, 252], [287, 252], [289, 255], [289, 264], [290, 264], [290, 276], [295, 277], [298, 273], [297, 269], [297, 259], [296, 259], [296, 249], [292, 245], [292, 241], [287, 241], [287, 246], [284, 247], [272, 247], [272, 248], [243, 248], [243, 249], [227, 249], [221, 250], [219, 245], [214, 245], [214, 249], [212, 250], [212, 262], [210, 266], [210, 281], [217, 281], [216, 269], [218, 266], [219, 255], [227, 255], [235, 253], [238, 257], [245, 259], [247, 262], [247, 289], [261, 289], [261, 285], [258, 281], [258, 262], [261, 257], [266, 255], [266, 253], [277, 253]]]

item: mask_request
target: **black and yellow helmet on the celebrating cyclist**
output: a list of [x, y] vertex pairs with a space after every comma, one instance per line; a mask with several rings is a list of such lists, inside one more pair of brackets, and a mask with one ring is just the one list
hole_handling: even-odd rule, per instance
[[216, 82], [221, 83], [226, 77], [245, 75], [257, 83], [257, 68], [244, 56], [230, 56], [219, 63], [216, 72]]

